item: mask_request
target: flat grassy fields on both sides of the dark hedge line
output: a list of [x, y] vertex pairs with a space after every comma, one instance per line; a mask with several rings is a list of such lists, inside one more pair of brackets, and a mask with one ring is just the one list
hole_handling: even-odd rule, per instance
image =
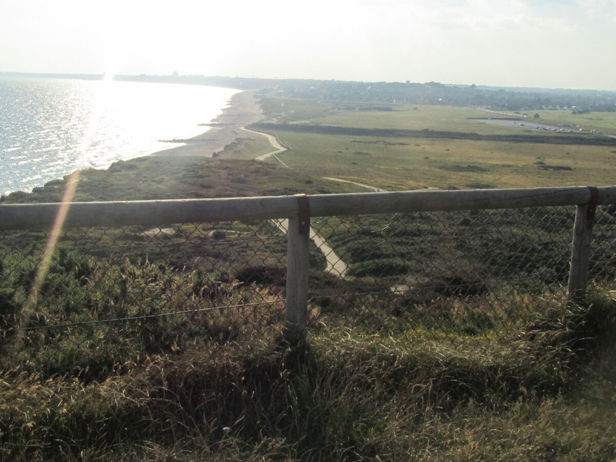
[[[418, 106], [415, 110], [414, 106], [392, 105], [389, 111], [365, 110], [367, 107], [374, 106], [291, 99], [264, 102], [270, 117], [288, 123], [321, 123], [341, 128], [431, 129], [514, 138], [524, 133], [527, 137], [524, 142], [503, 142], [440, 139], [430, 137], [429, 133], [424, 138], [405, 138], [403, 134], [387, 136], [387, 133], [347, 136], [301, 132], [301, 128], [298, 131], [277, 130], [275, 126], [268, 126], [269, 131], [291, 147], [290, 152], [282, 155], [285, 163], [314, 176], [338, 177], [391, 190], [614, 183], [616, 147], [613, 145], [575, 144], [573, 141], [567, 144], [566, 138], [555, 134], [525, 133], [469, 120], [469, 117], [486, 114], [474, 108]], [[604, 117], [606, 123], [612, 120], [609, 114]], [[541, 137], [542, 142], [533, 143], [532, 137]], [[550, 139], [559, 144], [549, 142]]]

